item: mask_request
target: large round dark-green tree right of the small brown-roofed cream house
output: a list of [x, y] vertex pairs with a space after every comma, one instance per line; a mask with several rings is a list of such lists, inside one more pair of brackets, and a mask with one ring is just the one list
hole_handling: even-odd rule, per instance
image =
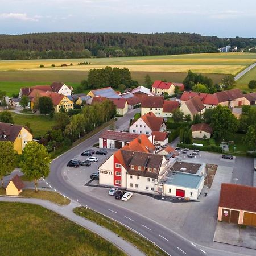
[[228, 138], [236, 133], [238, 129], [237, 118], [234, 117], [230, 109], [226, 106], [218, 105], [213, 109], [212, 123], [214, 138]]

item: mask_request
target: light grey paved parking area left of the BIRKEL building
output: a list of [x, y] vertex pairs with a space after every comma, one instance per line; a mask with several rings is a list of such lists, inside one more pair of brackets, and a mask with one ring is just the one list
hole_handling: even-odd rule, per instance
[[[93, 149], [95, 152], [100, 150], [99, 148], [85, 148], [84, 151]], [[90, 162], [91, 166], [79, 166], [77, 168], [74, 167], [67, 167], [68, 161], [72, 159], [78, 159], [81, 162], [85, 161], [89, 156], [81, 156], [81, 153], [84, 151], [81, 151], [79, 155], [74, 155], [72, 159], [67, 159], [67, 164], [63, 170], [63, 176], [64, 179], [72, 183], [73, 185], [76, 184], [77, 187], [83, 186], [86, 183], [88, 183], [90, 179], [90, 175], [93, 172], [98, 172], [98, 167], [101, 166], [102, 163], [105, 162], [106, 159], [108, 159], [113, 152], [116, 150], [110, 150], [105, 149], [108, 154], [106, 155], [97, 155], [93, 154], [92, 156], [96, 156], [98, 158], [98, 162]], [[93, 181], [94, 184], [98, 183], [98, 180]]]

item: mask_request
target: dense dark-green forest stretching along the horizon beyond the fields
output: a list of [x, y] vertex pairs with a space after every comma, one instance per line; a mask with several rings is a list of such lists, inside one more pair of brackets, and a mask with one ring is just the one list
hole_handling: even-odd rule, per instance
[[189, 33], [39, 33], [0, 35], [0, 59], [62, 59], [217, 52], [226, 45], [249, 49], [256, 39]]

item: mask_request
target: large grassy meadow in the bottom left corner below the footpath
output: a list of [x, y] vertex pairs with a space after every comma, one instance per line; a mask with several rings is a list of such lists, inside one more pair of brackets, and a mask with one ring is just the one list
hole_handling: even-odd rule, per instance
[[1, 255], [125, 255], [112, 243], [39, 205], [0, 202]]

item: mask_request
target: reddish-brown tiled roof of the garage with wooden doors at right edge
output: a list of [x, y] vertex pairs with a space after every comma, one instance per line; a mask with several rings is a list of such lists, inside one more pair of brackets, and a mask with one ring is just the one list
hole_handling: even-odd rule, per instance
[[222, 183], [219, 206], [256, 213], [256, 187]]

